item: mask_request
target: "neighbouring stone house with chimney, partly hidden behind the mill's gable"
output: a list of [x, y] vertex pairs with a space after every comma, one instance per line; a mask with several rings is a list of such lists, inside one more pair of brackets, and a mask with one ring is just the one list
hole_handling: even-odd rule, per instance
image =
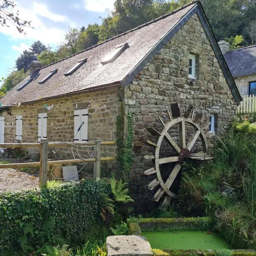
[[256, 94], [256, 45], [235, 50], [229, 49], [225, 40], [218, 42], [230, 72], [236, 82], [239, 93]]

